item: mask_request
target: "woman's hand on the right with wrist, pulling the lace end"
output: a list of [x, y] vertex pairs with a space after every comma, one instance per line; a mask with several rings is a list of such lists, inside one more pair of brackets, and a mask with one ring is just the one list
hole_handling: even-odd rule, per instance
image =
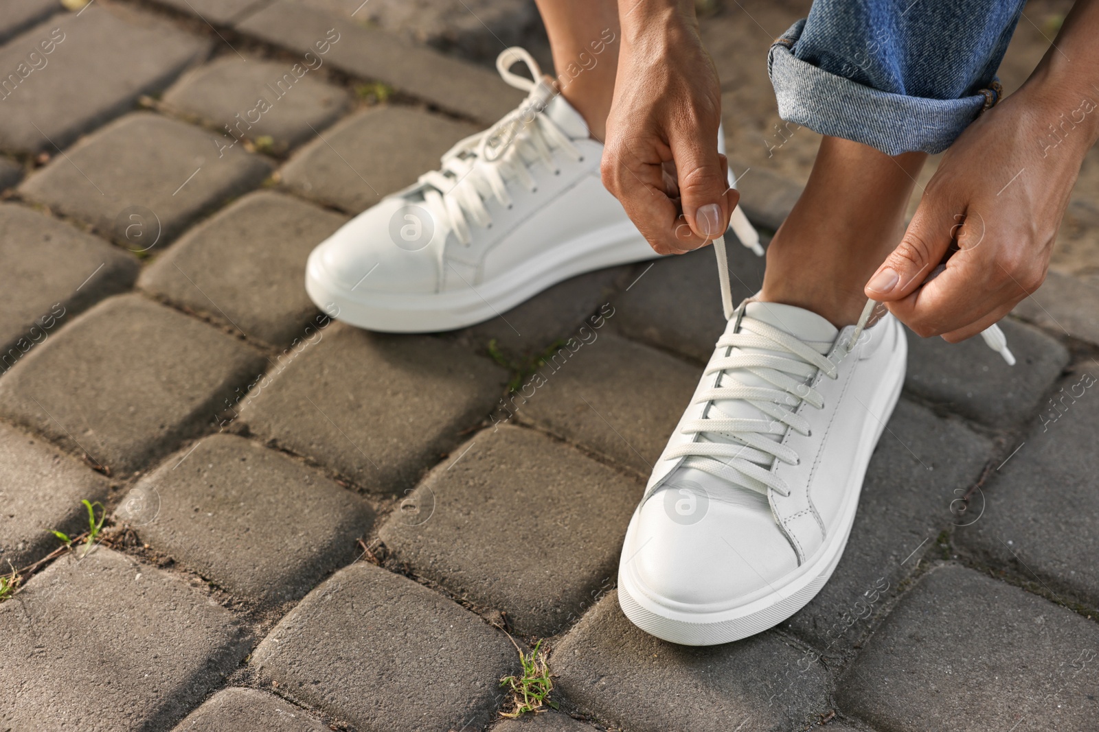
[[[1095, 50], [1081, 33], [1099, 30], [1099, 3], [1077, 5], [1023, 88], [951, 146], [900, 245], [866, 284], [868, 297], [920, 336], [975, 336], [1045, 279], [1080, 164], [1099, 133], [1088, 58]], [[945, 271], [921, 288], [947, 252]]]

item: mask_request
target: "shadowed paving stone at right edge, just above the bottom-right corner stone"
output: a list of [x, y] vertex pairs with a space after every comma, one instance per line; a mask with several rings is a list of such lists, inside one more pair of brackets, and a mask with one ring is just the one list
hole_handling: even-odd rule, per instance
[[1055, 402], [1042, 406], [1022, 447], [996, 471], [985, 516], [955, 532], [983, 562], [1090, 607], [1099, 607], [1096, 379], [1091, 362], [1061, 381]]

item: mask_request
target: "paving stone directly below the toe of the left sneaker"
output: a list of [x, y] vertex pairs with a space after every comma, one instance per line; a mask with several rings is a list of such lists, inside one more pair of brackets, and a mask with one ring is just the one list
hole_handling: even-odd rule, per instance
[[488, 415], [504, 380], [490, 360], [440, 338], [340, 324], [273, 369], [241, 415], [270, 443], [396, 494]]

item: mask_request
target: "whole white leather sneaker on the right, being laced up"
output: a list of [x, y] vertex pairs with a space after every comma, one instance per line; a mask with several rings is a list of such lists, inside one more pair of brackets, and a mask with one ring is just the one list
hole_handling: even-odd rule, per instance
[[820, 592], [904, 380], [900, 324], [857, 330], [792, 305], [733, 312], [626, 531], [619, 603], [642, 630], [725, 643]]

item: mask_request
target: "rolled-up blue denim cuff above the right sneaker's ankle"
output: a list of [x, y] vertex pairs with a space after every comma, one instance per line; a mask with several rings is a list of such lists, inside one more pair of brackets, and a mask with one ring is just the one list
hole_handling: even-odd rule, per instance
[[822, 135], [863, 143], [886, 155], [942, 153], [999, 97], [997, 82], [972, 97], [926, 99], [830, 74], [793, 55], [804, 24], [798, 21], [771, 45], [767, 72], [779, 116]]

